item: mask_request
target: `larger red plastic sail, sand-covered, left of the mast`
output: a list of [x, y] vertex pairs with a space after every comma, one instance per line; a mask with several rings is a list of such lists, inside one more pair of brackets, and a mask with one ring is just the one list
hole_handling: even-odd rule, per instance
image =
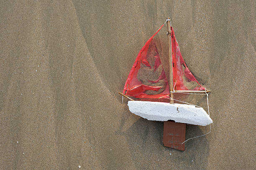
[[[164, 25], [161, 26], [161, 28]], [[169, 85], [153, 37], [142, 47], [128, 75], [123, 94], [137, 98], [168, 98]]]

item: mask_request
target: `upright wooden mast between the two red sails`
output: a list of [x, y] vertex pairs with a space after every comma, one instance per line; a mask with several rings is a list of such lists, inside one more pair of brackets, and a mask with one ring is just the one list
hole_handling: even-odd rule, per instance
[[[172, 35], [171, 35], [171, 20], [167, 18], [167, 36], [169, 45], [169, 66], [170, 66], [170, 78], [169, 78], [169, 90], [173, 90], [173, 74], [172, 74]], [[173, 93], [170, 93], [170, 97], [173, 99]], [[173, 100], [170, 100], [170, 104], [173, 104]]]

